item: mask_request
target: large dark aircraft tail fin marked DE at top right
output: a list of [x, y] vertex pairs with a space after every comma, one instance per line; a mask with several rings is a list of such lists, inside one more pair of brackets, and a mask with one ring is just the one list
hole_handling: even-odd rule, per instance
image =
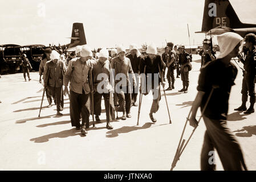
[[229, 0], [205, 0], [201, 32], [216, 27], [251, 28], [256, 24], [242, 23]]

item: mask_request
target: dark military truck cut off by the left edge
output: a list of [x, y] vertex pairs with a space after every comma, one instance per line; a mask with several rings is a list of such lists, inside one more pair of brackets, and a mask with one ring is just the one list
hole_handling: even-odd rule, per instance
[[21, 46], [17, 44], [0, 45], [0, 74], [21, 71]]

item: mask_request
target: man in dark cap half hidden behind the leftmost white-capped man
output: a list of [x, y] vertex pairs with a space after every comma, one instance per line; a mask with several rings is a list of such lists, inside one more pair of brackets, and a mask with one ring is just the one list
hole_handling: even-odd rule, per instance
[[[43, 59], [40, 61], [40, 65], [39, 65], [39, 83], [42, 83], [42, 75], [44, 72], [44, 65], [46, 65], [47, 61], [50, 61], [50, 55], [51, 55], [51, 49], [50, 48], [46, 48], [43, 50], [44, 54], [43, 54]], [[51, 107], [52, 104], [52, 98], [51, 98], [51, 93], [50, 90], [46, 89], [46, 97], [47, 97], [47, 101], [49, 103], [48, 107]], [[56, 101], [54, 100], [55, 104]]]

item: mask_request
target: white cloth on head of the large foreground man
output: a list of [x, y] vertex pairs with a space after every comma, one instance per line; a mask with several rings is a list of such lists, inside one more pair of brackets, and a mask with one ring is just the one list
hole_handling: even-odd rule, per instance
[[217, 56], [217, 59], [221, 59], [227, 55], [239, 42], [243, 40], [242, 36], [234, 33], [234, 32], [226, 32], [224, 34], [217, 36], [218, 46], [220, 47], [220, 54]]

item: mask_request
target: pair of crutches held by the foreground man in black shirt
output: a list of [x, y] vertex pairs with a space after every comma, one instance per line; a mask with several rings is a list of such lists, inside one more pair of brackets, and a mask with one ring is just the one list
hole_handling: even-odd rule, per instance
[[[210, 98], [212, 97], [212, 94], [213, 94], [213, 90], [214, 90], [214, 89], [215, 89], [215, 87], [213, 87], [212, 90], [210, 91], [209, 97], [208, 97], [208, 99], [207, 99], [207, 101], [206, 101], [206, 103], [205, 103], [204, 109], [202, 110], [201, 117], [200, 117], [200, 119], [198, 120], [198, 123], [197, 123], [197, 124], [199, 124], [199, 122], [200, 122], [202, 116], [204, 115], [205, 109], [206, 109], [206, 107], [207, 107], [207, 105], [208, 105], [208, 103], [209, 103], [209, 101], [210, 101]], [[184, 128], [183, 128], [182, 133], [181, 133], [180, 141], [178, 142], [178, 147], [177, 147], [176, 153], [175, 153], [175, 155], [174, 155], [174, 159], [173, 159], [173, 162], [172, 162], [172, 166], [171, 166], [171, 168], [170, 168], [170, 171], [172, 171], [173, 168], [176, 167], [176, 164], [177, 164], [178, 160], [180, 160], [180, 156], [181, 156], [182, 152], [184, 152], [185, 147], [188, 145], [189, 140], [192, 138], [192, 135], [194, 134], [194, 131], [195, 131], [196, 128], [197, 128], [197, 127], [195, 127], [195, 128], [193, 129], [192, 133], [190, 134], [190, 136], [189, 136], [189, 138], [188, 138], [188, 141], [186, 141], [186, 143], [185, 143], [185, 139], [182, 139], [182, 138], [183, 138], [183, 135], [184, 135], [184, 132], [185, 132], [185, 129], [186, 129], [186, 125], [187, 125], [187, 123], [188, 123], [188, 120], [189, 120], [189, 117], [190, 117], [190, 114], [191, 114], [191, 113], [192, 113], [192, 107], [191, 107], [191, 109], [190, 109], [190, 111], [189, 111], [188, 117], [186, 118], [185, 126], [184, 126]], [[182, 140], [182, 142], [181, 142], [181, 140]], [[185, 145], [184, 145], [184, 143], [185, 143]]]

